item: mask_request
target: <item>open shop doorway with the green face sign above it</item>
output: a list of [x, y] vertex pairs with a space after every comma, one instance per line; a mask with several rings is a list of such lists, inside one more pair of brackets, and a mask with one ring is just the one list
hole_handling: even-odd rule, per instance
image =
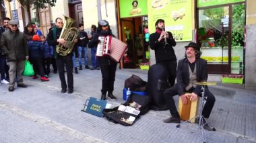
[[119, 0], [117, 3], [121, 40], [128, 46], [123, 68], [139, 68], [141, 63], [150, 61], [147, 1]]

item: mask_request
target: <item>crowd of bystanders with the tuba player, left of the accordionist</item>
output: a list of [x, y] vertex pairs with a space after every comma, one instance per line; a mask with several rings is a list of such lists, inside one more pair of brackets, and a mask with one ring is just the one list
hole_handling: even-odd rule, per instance
[[[92, 25], [92, 32], [87, 34], [84, 31], [84, 24], [79, 23], [75, 47], [73, 52], [65, 56], [65, 58], [56, 52], [56, 46], [65, 42], [63, 38], [59, 39], [62, 28], [63, 20], [57, 18], [55, 26], [49, 29], [47, 36], [44, 36], [34, 23], [28, 23], [24, 28], [24, 32], [20, 32], [18, 21], [4, 17], [3, 26], [0, 27], [0, 85], [9, 84], [9, 91], [14, 91], [15, 81], [18, 83], [18, 87], [27, 87], [22, 79], [25, 60], [29, 60], [33, 66], [34, 75], [32, 79], [38, 79], [38, 76], [40, 76], [40, 81], [50, 81], [51, 64], [53, 65], [53, 73], [56, 74], [59, 70], [62, 93], [67, 91], [67, 85], [64, 82], [64, 66], [66, 66], [65, 70], [67, 70], [68, 93], [73, 93], [73, 69], [75, 73], [78, 73], [76, 53], [78, 53], [79, 70], [82, 70], [82, 55], [84, 55], [84, 68], [100, 70], [96, 59], [97, 45], [91, 47], [92, 68], [88, 66], [87, 62], [87, 45], [92, 36], [96, 34], [96, 26]], [[13, 38], [13, 41], [10, 38]]]

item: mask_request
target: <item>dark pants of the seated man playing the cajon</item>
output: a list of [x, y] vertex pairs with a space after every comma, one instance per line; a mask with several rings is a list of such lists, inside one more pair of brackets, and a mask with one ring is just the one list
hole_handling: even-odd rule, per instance
[[[192, 87], [191, 89], [189, 89], [189, 93], [192, 93], [194, 91], [194, 88]], [[170, 114], [172, 116], [177, 116], [178, 111], [173, 99], [173, 96], [178, 95], [178, 88], [177, 88], [177, 84], [175, 84], [173, 87], [170, 87], [168, 89], [166, 89], [166, 91], [164, 91], [164, 97], [166, 99], [166, 103], [168, 105], [168, 108], [170, 109]], [[199, 94], [199, 97], [201, 97], [201, 93]], [[210, 117], [210, 114], [212, 112], [212, 108], [214, 107], [214, 103], [215, 103], [215, 97], [214, 95], [209, 91], [209, 89], [207, 87], [205, 87], [205, 97], [207, 97], [206, 103], [203, 107], [203, 111], [202, 111], [202, 115], [203, 117]]]

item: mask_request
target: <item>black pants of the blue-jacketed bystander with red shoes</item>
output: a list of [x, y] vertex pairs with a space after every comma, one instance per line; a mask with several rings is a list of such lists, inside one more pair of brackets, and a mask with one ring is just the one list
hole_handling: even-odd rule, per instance
[[34, 75], [40, 75], [44, 77], [44, 67], [42, 66], [42, 58], [31, 58], [31, 62], [34, 69]]

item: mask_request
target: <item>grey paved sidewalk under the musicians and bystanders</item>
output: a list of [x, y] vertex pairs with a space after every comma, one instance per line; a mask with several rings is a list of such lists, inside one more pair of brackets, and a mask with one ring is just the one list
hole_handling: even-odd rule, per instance
[[[123, 103], [124, 81], [138, 75], [147, 81], [147, 70], [117, 70], [113, 107]], [[27, 89], [0, 85], [0, 142], [202, 142], [193, 124], [164, 124], [168, 111], [149, 111], [133, 126], [121, 126], [84, 113], [86, 99], [100, 98], [100, 70], [74, 74], [74, 93], [61, 94], [59, 75], [49, 82], [25, 77]], [[216, 104], [210, 123], [216, 132], [206, 132], [206, 142], [256, 142], [256, 92], [220, 85], [210, 87]], [[177, 101], [178, 97], [174, 97]]]

